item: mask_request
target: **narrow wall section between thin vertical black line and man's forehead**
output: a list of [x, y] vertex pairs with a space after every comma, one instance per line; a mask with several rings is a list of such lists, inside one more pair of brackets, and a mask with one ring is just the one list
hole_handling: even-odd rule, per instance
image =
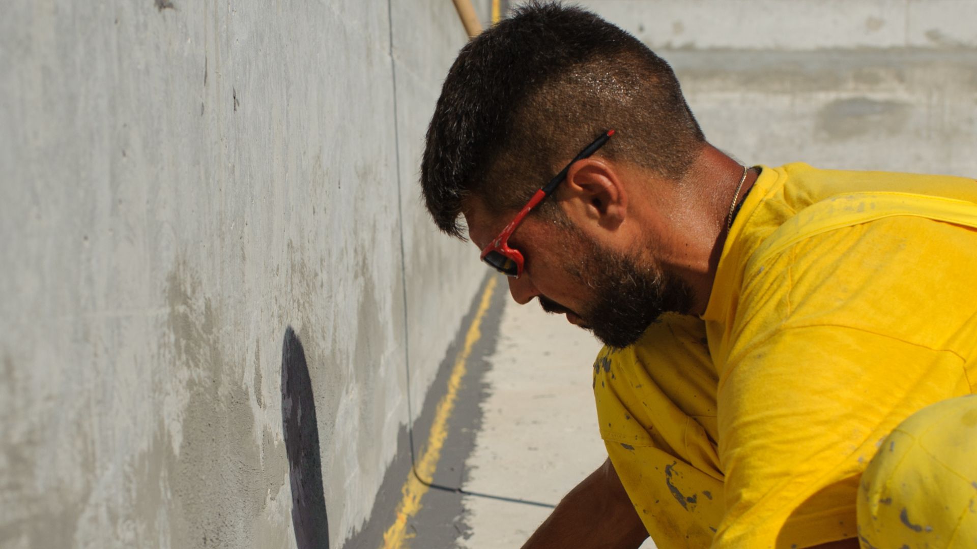
[[[491, 0], [475, 0], [472, 4], [488, 27]], [[424, 132], [441, 95], [447, 69], [467, 35], [450, 2], [392, 0], [391, 10], [404, 201], [410, 396], [416, 417], [447, 344], [458, 329], [457, 320], [467, 312], [486, 270], [478, 262], [478, 250], [470, 243], [446, 242], [450, 238], [437, 231], [423, 207], [416, 183]], [[450, 317], [445, 316], [446, 307]], [[448, 319], [452, 321], [444, 321]]]

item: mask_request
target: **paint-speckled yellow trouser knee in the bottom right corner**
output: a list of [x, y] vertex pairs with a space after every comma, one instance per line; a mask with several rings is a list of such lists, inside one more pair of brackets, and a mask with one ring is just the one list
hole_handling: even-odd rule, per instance
[[977, 398], [937, 402], [885, 439], [862, 474], [867, 547], [977, 547]]

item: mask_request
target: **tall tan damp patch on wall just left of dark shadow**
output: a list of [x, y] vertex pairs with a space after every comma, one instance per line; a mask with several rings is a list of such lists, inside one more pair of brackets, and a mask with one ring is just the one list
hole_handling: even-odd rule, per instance
[[[243, 363], [226, 357], [219, 307], [201, 297], [200, 282], [178, 262], [168, 277], [170, 355], [188, 372], [189, 400], [180, 418], [179, 447], [161, 439], [144, 457], [146, 481], [163, 484], [169, 542], [174, 547], [240, 547], [252, 540], [269, 498], [276, 500], [287, 471], [274, 434], [255, 436]], [[148, 490], [147, 512], [154, 507]], [[168, 492], [168, 493], [167, 493]]]

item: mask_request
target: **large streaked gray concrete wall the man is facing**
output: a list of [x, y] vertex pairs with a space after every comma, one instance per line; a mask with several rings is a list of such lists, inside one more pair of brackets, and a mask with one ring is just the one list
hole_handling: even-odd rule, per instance
[[295, 546], [287, 325], [361, 528], [485, 273], [415, 183], [466, 39], [442, 0], [5, 4], [0, 547]]

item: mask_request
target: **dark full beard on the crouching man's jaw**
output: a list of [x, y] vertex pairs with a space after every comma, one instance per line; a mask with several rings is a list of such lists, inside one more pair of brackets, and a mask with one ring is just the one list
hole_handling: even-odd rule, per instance
[[662, 313], [686, 315], [692, 310], [692, 291], [684, 280], [657, 266], [642, 266], [633, 255], [592, 241], [580, 243], [583, 249], [577, 253], [584, 251], [583, 259], [567, 271], [591, 289], [593, 301], [577, 314], [605, 345], [628, 347]]

